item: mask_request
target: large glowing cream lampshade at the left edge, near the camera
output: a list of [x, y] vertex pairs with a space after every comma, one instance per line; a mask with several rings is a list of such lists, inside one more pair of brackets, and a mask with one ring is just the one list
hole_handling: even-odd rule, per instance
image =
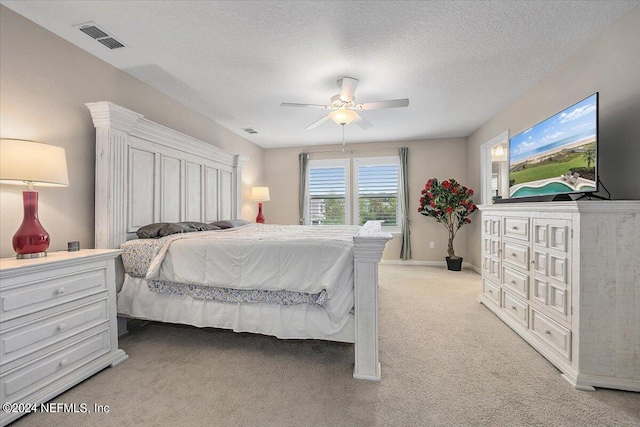
[[0, 182], [41, 187], [69, 185], [64, 148], [20, 139], [0, 140]]

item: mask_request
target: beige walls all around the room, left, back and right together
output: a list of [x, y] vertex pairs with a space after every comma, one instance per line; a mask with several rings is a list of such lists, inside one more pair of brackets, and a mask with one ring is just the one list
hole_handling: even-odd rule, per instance
[[[417, 213], [420, 190], [430, 177], [456, 178], [480, 190], [480, 145], [510, 129], [537, 123], [587, 95], [600, 92], [601, 179], [614, 198], [640, 199], [640, 7], [596, 37], [553, 73], [504, 108], [468, 138], [356, 144], [353, 149], [408, 146], [411, 230], [415, 260], [441, 261], [444, 227]], [[242, 217], [255, 218], [250, 187], [269, 185], [268, 222], [298, 220], [298, 153], [339, 146], [262, 148], [111, 67], [38, 25], [0, 6], [0, 136], [62, 146], [70, 187], [41, 188], [40, 217], [52, 250], [80, 240], [93, 245], [94, 128], [85, 102], [108, 100], [249, 158], [243, 174]], [[350, 147], [351, 148], [351, 147]], [[385, 155], [383, 151], [359, 156]], [[388, 152], [386, 152], [388, 154]], [[316, 155], [314, 158], [318, 158]], [[11, 237], [22, 219], [22, 188], [0, 186], [0, 256], [13, 255]], [[475, 197], [480, 200], [479, 195]], [[480, 265], [478, 215], [456, 238], [456, 252]], [[436, 248], [429, 249], [435, 241]], [[385, 259], [397, 259], [399, 239]]]

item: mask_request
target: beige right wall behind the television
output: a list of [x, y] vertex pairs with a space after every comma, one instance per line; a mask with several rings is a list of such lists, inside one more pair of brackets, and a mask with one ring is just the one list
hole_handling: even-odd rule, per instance
[[[469, 136], [469, 183], [480, 187], [480, 146], [515, 135], [600, 92], [598, 173], [614, 199], [640, 199], [640, 7], [596, 37]], [[602, 192], [601, 192], [602, 194]], [[480, 227], [469, 233], [469, 259], [480, 265]]]

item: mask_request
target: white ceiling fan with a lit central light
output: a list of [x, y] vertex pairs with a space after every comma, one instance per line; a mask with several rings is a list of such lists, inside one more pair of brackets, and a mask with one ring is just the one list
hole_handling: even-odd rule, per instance
[[341, 79], [338, 79], [337, 83], [338, 87], [340, 88], [340, 93], [331, 97], [331, 103], [329, 105], [296, 104], [291, 102], [283, 102], [280, 105], [282, 107], [311, 107], [320, 108], [322, 110], [332, 110], [329, 114], [322, 117], [320, 120], [317, 120], [307, 126], [305, 128], [307, 130], [315, 129], [328, 119], [331, 119], [337, 124], [343, 126], [354, 122], [362, 129], [369, 129], [373, 127], [373, 125], [365, 120], [361, 115], [359, 115], [357, 113], [358, 111], [378, 110], [380, 108], [407, 107], [409, 105], [409, 100], [407, 98], [356, 104], [356, 98], [355, 96], [353, 96], [353, 93], [356, 91], [356, 87], [358, 86], [358, 79], [354, 79], [353, 77], [343, 77]]

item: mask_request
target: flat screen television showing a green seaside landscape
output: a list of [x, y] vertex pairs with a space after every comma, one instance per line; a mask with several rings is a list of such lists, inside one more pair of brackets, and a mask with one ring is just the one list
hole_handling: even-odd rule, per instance
[[509, 139], [509, 198], [597, 191], [597, 92]]

